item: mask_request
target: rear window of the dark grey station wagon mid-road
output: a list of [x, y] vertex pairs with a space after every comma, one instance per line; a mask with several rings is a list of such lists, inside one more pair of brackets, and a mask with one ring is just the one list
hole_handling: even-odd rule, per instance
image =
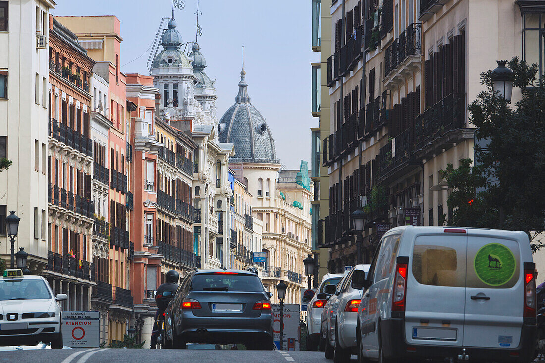
[[198, 274], [191, 280], [193, 291], [258, 291], [263, 292], [263, 285], [257, 276], [245, 274]]

